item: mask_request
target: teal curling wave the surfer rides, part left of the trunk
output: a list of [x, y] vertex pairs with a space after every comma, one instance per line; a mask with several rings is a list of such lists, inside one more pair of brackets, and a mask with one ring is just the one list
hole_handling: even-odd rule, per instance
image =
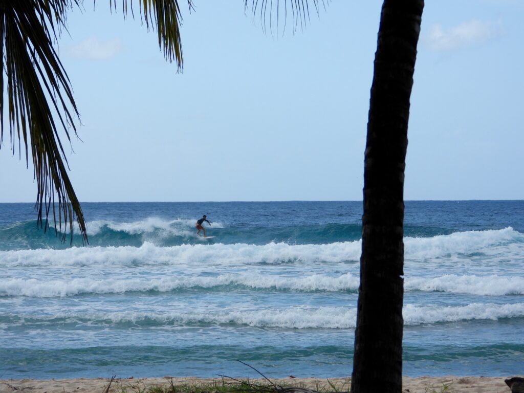
[[[221, 222], [205, 225], [212, 235], [220, 238], [223, 244], [326, 244], [355, 241], [361, 237], [361, 227], [357, 224], [286, 225], [270, 227], [235, 227]], [[140, 246], [149, 242], [157, 246], [176, 246], [198, 244], [202, 238], [196, 235], [195, 221], [189, 219], [164, 220], [149, 217], [136, 222], [114, 222], [97, 220], [86, 223], [89, 243], [94, 246]], [[208, 234], [210, 234], [208, 232]], [[73, 245], [82, 245], [80, 231], [74, 231]], [[4, 249], [54, 248], [63, 244], [54, 237], [51, 227], [47, 234], [36, 230], [36, 221], [17, 223], [0, 227], [0, 243]], [[7, 246], [7, 248], [6, 248]]]

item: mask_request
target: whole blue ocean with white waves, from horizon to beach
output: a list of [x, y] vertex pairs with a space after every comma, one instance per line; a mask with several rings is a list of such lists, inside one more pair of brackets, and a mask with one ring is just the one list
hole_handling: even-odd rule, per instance
[[[0, 204], [0, 378], [351, 375], [362, 202], [83, 203], [86, 246], [33, 207]], [[521, 374], [524, 201], [406, 202], [404, 242], [403, 374]]]

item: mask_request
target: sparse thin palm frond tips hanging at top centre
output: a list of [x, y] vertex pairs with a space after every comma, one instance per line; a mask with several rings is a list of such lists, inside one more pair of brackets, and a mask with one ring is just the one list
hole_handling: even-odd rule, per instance
[[[319, 15], [320, 5], [326, 9], [326, 5], [331, 0], [309, 0], [313, 2], [313, 6], [317, 15]], [[288, 6], [289, 4], [289, 6]], [[244, 8], [249, 8], [249, 0], [244, 0]], [[308, 23], [311, 23], [309, 15], [309, 2], [308, 0], [251, 0], [251, 13], [253, 21], [260, 18], [260, 26], [267, 34], [267, 27], [269, 25], [269, 31], [271, 36], [273, 35], [273, 26], [276, 24], [276, 35], [278, 36], [280, 30], [280, 17], [283, 14], [284, 25], [282, 28], [282, 35], [286, 32], [286, 25], [288, 14], [292, 15], [293, 26], [292, 34], [297, 32], [298, 27], [303, 30]]]

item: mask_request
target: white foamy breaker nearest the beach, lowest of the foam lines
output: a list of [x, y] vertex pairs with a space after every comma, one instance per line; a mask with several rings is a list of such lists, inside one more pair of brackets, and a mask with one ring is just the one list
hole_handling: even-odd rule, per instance
[[[429, 325], [474, 320], [501, 320], [524, 317], [524, 303], [494, 304], [472, 303], [464, 306], [419, 307], [408, 304], [402, 310], [404, 324]], [[67, 324], [115, 326], [129, 324], [137, 328], [155, 326], [209, 326], [245, 325], [254, 328], [283, 329], [354, 329], [356, 309], [345, 307], [289, 307], [286, 309], [195, 312], [71, 312], [54, 315], [2, 315], [4, 329], [23, 324], [37, 329], [38, 325]]]

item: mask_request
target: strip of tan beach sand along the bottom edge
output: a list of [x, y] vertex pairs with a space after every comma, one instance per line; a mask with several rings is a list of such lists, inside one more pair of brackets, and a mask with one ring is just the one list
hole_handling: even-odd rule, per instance
[[[425, 393], [440, 392], [442, 388], [449, 385], [446, 393], [508, 393], [510, 389], [505, 384], [504, 379], [508, 377], [419, 377], [402, 379], [402, 391], [405, 393]], [[163, 378], [116, 378], [110, 388], [110, 392], [121, 391], [126, 387], [127, 392], [143, 391], [148, 386], [169, 385], [171, 377]], [[205, 383], [212, 383], [212, 379], [202, 378], [172, 378], [174, 385], [197, 384], [200, 386]], [[350, 378], [330, 378], [331, 383], [339, 391], [350, 390]], [[215, 379], [221, 382], [221, 379]], [[232, 381], [226, 379], [226, 381]], [[263, 380], [250, 380], [253, 383], [263, 382]], [[274, 380], [281, 385], [293, 385], [307, 387], [313, 390], [322, 387], [329, 387], [327, 379], [321, 378], [286, 378]], [[109, 384], [110, 379], [106, 378], [77, 378], [77, 379], [0, 379], [0, 393], [11, 392], [31, 392], [31, 393], [103, 393]], [[138, 389], [139, 388], [139, 389]], [[202, 389], [204, 390], [204, 389]], [[379, 391], [380, 389], [377, 389]]]

